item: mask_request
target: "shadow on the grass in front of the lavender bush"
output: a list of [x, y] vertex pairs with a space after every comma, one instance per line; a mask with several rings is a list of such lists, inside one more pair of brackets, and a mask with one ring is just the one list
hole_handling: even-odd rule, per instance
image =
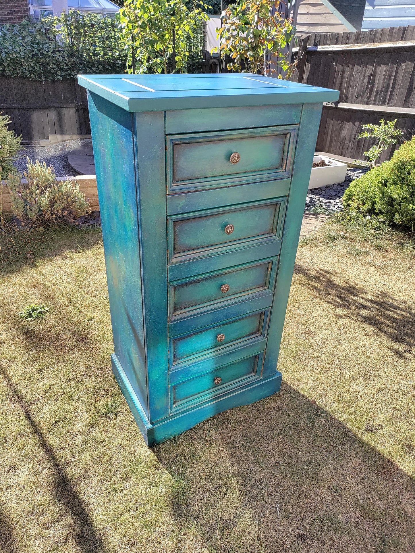
[[0, 274], [18, 272], [30, 260], [47, 259], [65, 252], [90, 249], [102, 240], [101, 228], [55, 228], [43, 233], [0, 234]]

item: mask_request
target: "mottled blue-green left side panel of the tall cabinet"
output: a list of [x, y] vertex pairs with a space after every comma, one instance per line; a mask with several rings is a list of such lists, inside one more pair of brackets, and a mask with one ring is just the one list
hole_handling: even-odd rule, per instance
[[132, 114], [88, 94], [114, 351], [148, 415]]

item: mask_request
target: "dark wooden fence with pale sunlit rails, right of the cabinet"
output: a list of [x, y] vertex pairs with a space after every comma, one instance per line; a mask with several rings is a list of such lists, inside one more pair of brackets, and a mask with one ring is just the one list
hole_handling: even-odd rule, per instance
[[397, 119], [405, 140], [415, 134], [415, 27], [308, 35], [297, 67], [294, 80], [340, 91], [323, 107], [318, 152], [365, 159], [372, 142], [358, 140], [361, 126], [382, 118]]

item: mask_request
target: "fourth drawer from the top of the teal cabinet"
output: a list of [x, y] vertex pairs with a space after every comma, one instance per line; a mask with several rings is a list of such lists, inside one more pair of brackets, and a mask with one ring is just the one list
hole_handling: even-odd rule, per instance
[[223, 349], [235, 347], [258, 338], [265, 337], [269, 311], [261, 311], [234, 321], [224, 322], [188, 336], [171, 340], [170, 366], [195, 361], [206, 354], [219, 354]]

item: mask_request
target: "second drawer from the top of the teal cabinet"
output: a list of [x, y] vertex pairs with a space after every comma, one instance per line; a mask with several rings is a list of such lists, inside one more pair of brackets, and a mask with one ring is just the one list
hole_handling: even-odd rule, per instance
[[193, 261], [261, 239], [280, 239], [285, 203], [284, 197], [168, 217], [169, 262]]

